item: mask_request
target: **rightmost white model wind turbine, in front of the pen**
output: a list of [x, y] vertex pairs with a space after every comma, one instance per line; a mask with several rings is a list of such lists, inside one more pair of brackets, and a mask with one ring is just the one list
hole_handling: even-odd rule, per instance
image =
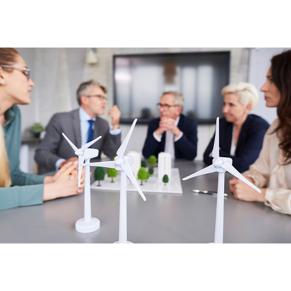
[[229, 172], [234, 177], [242, 180], [242, 182], [246, 183], [259, 193], [261, 191], [255, 185], [253, 185], [249, 180], [244, 178], [242, 174], [237, 171], [232, 166], [232, 159], [219, 157], [219, 117], [216, 118], [216, 131], [215, 131], [215, 139], [212, 150], [212, 165], [190, 175], [182, 180], [188, 180], [190, 178], [209, 174], [213, 172], [218, 172], [218, 188], [217, 188], [217, 202], [216, 202], [216, 218], [215, 218], [215, 234], [214, 234], [214, 243], [223, 243], [223, 215], [224, 215], [224, 176], [225, 172]]

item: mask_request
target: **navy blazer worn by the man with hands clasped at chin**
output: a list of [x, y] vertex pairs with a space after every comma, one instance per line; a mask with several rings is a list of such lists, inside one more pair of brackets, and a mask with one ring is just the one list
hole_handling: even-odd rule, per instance
[[[145, 158], [151, 155], [158, 157], [159, 153], [164, 151], [166, 133], [162, 134], [161, 142], [158, 142], [153, 136], [153, 132], [159, 127], [159, 122], [160, 118], [156, 118], [148, 123], [146, 141], [143, 147]], [[197, 121], [192, 117], [180, 114], [178, 129], [183, 132], [183, 135], [174, 143], [175, 158], [193, 160], [197, 155]]]

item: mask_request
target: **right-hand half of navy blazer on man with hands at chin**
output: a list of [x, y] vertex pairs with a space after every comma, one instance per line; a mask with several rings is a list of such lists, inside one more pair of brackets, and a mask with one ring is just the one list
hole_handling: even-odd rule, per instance
[[178, 124], [178, 128], [183, 135], [174, 144], [176, 158], [193, 160], [197, 155], [197, 121], [184, 115], [181, 115], [180, 119], [181, 124]]

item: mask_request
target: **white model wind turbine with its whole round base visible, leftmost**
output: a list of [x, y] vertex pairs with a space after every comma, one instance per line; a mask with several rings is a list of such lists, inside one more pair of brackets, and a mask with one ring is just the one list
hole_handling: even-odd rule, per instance
[[[63, 136], [75, 151], [75, 154], [79, 157], [79, 168], [78, 168], [78, 187], [81, 185], [81, 173], [82, 163], [90, 162], [90, 159], [96, 158], [99, 151], [96, 148], [88, 148], [97, 142], [102, 136], [98, 136], [95, 140], [78, 148], [75, 146], [63, 132]], [[90, 190], [90, 167], [85, 167], [85, 190], [84, 190], [84, 218], [77, 220], [75, 228], [77, 231], [82, 233], [93, 232], [100, 227], [99, 219], [91, 217], [91, 190]]]

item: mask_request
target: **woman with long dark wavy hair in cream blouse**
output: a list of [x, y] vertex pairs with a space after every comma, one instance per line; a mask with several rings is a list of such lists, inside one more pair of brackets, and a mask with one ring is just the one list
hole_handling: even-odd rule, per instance
[[234, 197], [264, 202], [273, 210], [291, 214], [291, 50], [275, 55], [261, 87], [267, 107], [277, 107], [278, 118], [264, 137], [259, 158], [243, 173], [261, 193], [237, 178], [229, 181]]

